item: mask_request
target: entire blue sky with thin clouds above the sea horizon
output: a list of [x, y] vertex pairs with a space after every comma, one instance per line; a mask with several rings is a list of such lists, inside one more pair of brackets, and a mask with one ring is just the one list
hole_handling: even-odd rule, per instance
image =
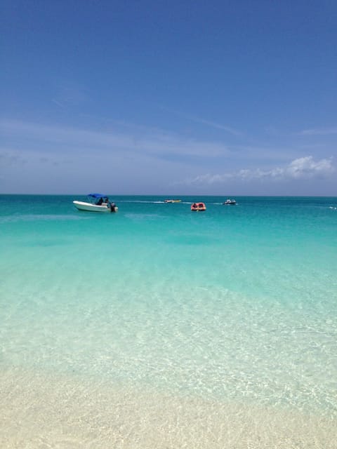
[[0, 193], [337, 195], [335, 1], [0, 8]]

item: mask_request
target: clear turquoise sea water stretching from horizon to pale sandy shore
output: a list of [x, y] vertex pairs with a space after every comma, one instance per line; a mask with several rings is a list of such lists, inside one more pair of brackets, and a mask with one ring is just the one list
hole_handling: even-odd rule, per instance
[[337, 198], [111, 198], [0, 196], [3, 369], [337, 417]]

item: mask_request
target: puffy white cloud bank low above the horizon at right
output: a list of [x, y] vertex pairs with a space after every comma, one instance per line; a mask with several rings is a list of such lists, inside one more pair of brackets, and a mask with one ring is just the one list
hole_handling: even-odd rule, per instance
[[184, 184], [215, 184], [228, 180], [309, 180], [324, 179], [336, 172], [332, 159], [321, 159], [315, 161], [312, 156], [305, 156], [294, 159], [287, 166], [275, 167], [270, 170], [242, 169], [232, 173], [211, 174], [206, 173], [197, 177], [185, 180]]

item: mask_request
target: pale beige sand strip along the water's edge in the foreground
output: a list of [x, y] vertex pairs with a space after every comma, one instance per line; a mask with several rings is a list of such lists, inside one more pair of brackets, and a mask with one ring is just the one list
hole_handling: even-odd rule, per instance
[[3, 370], [1, 449], [334, 449], [336, 420]]

